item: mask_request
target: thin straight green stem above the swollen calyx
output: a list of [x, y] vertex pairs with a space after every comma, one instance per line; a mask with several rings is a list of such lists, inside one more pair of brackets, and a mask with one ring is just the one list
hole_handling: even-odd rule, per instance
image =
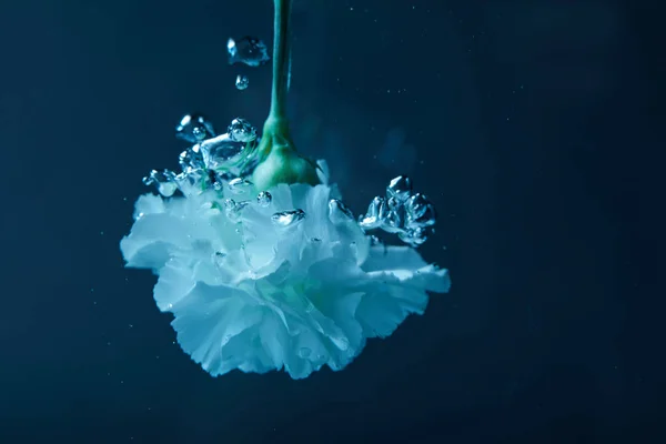
[[273, 91], [269, 120], [284, 121], [284, 125], [286, 125], [286, 91], [289, 83], [289, 59], [291, 57], [289, 27], [291, 22], [292, 0], [274, 0], [274, 2]]

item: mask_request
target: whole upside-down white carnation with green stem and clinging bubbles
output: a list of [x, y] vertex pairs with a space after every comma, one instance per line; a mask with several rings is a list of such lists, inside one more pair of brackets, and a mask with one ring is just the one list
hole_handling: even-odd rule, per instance
[[[273, 101], [261, 139], [243, 119], [215, 134], [203, 115], [185, 115], [176, 134], [193, 145], [180, 157], [182, 172], [144, 179], [160, 194], [139, 198], [120, 245], [128, 266], [159, 276], [158, 307], [213, 376], [344, 369], [367, 339], [391, 335], [424, 312], [428, 292], [451, 285], [415, 250], [435, 213], [406, 176], [356, 219], [325, 162], [296, 153], [283, 114], [287, 7], [275, 0]], [[375, 229], [406, 244], [385, 245], [367, 233]]]

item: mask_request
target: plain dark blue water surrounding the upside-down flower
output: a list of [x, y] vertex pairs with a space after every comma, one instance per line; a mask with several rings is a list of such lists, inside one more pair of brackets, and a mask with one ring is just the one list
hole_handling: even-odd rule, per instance
[[183, 113], [261, 128], [270, 67], [225, 44], [272, 41], [272, 2], [1, 1], [0, 443], [663, 442], [657, 16], [294, 1], [300, 151], [355, 213], [408, 174], [438, 211], [420, 251], [453, 286], [293, 381], [212, 379], [119, 251]]

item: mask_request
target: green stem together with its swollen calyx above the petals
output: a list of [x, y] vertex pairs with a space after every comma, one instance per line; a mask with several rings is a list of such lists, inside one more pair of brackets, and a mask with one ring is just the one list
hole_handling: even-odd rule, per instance
[[262, 159], [252, 173], [252, 181], [260, 190], [279, 183], [320, 183], [316, 165], [301, 157], [291, 139], [286, 119], [286, 92], [289, 83], [289, 23], [291, 0], [275, 1], [275, 31], [273, 44], [273, 89], [271, 112], [264, 123], [258, 153]]

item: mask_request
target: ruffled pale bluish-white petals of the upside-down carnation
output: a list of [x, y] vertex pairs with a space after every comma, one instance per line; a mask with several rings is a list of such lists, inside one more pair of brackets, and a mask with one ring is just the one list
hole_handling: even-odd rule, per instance
[[262, 202], [251, 199], [262, 190], [236, 202], [214, 189], [138, 200], [122, 253], [159, 275], [158, 306], [210, 374], [341, 370], [366, 339], [423, 313], [426, 292], [448, 290], [446, 270], [372, 241], [322, 182], [279, 184]]

